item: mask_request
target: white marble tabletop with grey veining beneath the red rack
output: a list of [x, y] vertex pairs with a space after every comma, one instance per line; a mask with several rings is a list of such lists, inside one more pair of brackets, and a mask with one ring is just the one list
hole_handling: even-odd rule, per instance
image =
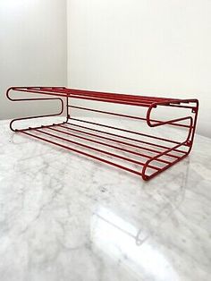
[[149, 182], [0, 123], [1, 281], [211, 278], [211, 140]]

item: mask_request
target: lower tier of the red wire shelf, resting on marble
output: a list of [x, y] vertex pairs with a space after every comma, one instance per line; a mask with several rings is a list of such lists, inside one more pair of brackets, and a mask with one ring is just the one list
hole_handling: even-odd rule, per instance
[[67, 122], [18, 132], [148, 180], [188, 155], [184, 143], [71, 118]]

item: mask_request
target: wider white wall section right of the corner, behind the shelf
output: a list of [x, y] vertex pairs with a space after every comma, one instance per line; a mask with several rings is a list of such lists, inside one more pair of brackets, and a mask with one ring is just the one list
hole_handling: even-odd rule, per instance
[[211, 137], [210, 0], [68, 0], [68, 84], [199, 98]]

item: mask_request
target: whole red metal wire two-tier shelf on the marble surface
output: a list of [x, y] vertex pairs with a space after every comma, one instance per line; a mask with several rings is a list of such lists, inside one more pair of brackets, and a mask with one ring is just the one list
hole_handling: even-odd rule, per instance
[[[53, 97], [11, 98], [11, 91]], [[7, 89], [6, 96], [12, 101], [57, 100], [61, 103], [61, 109], [56, 114], [13, 119], [10, 123], [10, 128], [14, 132], [20, 132], [38, 140], [62, 147], [63, 149], [69, 149], [83, 156], [119, 167], [135, 175], [142, 176], [143, 180], [151, 179], [170, 166], [178, 163], [181, 159], [186, 158], [193, 145], [198, 116], [198, 99], [155, 98], [82, 89], [67, 89], [64, 87], [12, 87]], [[74, 106], [70, 103], [70, 101], [74, 99], [93, 102], [95, 107]], [[114, 110], [100, 110], [97, 109], [96, 102], [144, 107], [147, 110], [146, 117], [116, 113]], [[151, 117], [152, 112], [156, 110], [158, 106], [165, 106], [166, 108], [171, 106], [177, 111], [185, 109], [190, 111], [190, 114], [182, 115], [180, 118], [167, 121], [153, 119]], [[109, 106], [109, 108], [110, 107], [112, 106]], [[64, 108], [66, 109], [66, 121], [63, 123], [53, 123], [51, 125], [21, 129], [13, 128], [13, 123], [21, 120], [63, 115]], [[187, 137], [184, 141], [175, 141], [173, 138], [166, 139], [154, 134], [146, 134], [105, 123], [96, 123], [81, 118], [74, 118], [70, 115], [70, 108], [80, 110], [80, 112], [92, 112], [105, 116], [112, 115], [121, 118], [130, 118], [132, 120], [140, 120], [146, 122], [149, 127], [171, 125], [186, 130]], [[118, 161], [122, 161], [123, 164], [118, 163]], [[125, 165], [126, 163], [131, 166]]]

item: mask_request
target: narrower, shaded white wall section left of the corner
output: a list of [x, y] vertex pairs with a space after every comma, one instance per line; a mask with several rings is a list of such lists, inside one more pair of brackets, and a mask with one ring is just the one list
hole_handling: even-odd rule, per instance
[[[6, 100], [5, 89], [65, 86], [66, 60], [65, 0], [0, 0], [0, 119], [31, 112], [32, 105]], [[38, 114], [46, 108], [46, 104], [34, 106]]]

